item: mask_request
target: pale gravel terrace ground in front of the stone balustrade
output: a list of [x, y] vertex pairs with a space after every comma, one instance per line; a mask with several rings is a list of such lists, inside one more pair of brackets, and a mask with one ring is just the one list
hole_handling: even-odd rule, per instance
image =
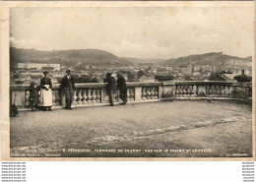
[[11, 154], [251, 156], [251, 114], [246, 104], [188, 100], [24, 111], [11, 118]]

